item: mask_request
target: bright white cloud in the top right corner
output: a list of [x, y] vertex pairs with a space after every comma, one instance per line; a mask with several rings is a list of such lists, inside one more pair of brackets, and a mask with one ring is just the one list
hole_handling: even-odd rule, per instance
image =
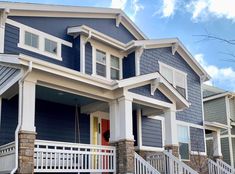
[[205, 20], [208, 16], [235, 20], [234, 0], [196, 0], [186, 5], [193, 20]]

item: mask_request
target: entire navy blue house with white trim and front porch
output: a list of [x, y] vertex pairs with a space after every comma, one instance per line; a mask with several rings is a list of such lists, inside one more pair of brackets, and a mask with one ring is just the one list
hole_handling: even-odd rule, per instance
[[118, 9], [0, 9], [0, 172], [157, 173], [136, 151], [195, 173], [181, 161], [206, 159], [209, 76], [179, 39], [148, 39]]

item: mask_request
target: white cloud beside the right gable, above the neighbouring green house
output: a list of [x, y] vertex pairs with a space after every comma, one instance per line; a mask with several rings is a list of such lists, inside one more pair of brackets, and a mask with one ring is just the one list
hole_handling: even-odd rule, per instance
[[231, 67], [219, 68], [215, 65], [209, 65], [203, 54], [196, 54], [195, 59], [202, 65], [202, 67], [211, 76], [211, 80], [206, 82], [209, 85], [229, 85], [230, 90], [235, 91], [235, 71]]

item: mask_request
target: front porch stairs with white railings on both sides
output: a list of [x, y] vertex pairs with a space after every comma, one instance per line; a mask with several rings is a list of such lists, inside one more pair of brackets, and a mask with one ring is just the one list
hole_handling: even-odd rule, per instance
[[135, 154], [136, 174], [198, 174], [171, 152], [163, 151], [147, 157], [147, 161]]

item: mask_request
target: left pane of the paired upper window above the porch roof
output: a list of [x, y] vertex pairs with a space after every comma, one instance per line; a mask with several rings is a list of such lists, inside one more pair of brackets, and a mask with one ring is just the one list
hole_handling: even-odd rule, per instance
[[106, 53], [96, 50], [96, 74], [106, 77]]

